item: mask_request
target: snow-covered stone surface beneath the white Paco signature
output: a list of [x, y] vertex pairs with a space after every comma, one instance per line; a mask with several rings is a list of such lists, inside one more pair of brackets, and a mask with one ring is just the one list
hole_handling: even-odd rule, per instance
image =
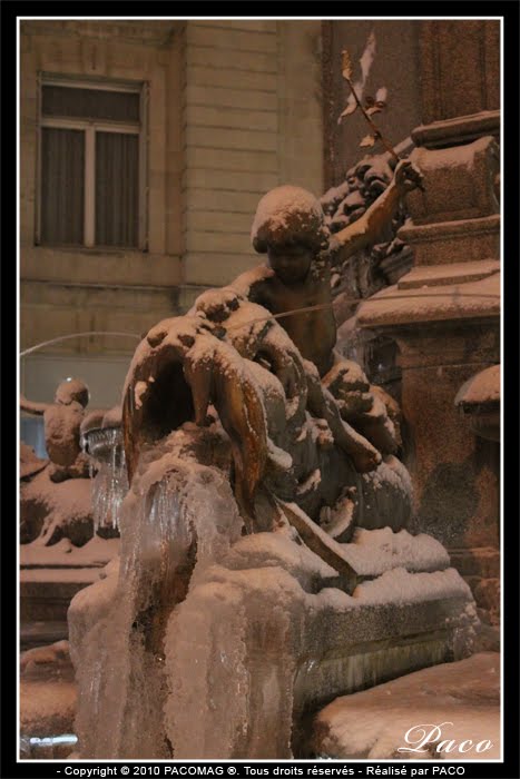
[[313, 747], [345, 759], [499, 759], [500, 654], [481, 652], [336, 698], [316, 717]]

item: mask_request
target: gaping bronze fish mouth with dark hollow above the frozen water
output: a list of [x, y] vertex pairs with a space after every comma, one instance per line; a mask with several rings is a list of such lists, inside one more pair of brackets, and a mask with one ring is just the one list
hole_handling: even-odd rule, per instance
[[267, 457], [261, 389], [248, 361], [188, 317], [165, 321], [150, 331], [127, 376], [122, 431], [128, 483], [144, 448], [186, 422], [205, 427], [209, 404], [229, 437], [236, 500], [251, 515]]

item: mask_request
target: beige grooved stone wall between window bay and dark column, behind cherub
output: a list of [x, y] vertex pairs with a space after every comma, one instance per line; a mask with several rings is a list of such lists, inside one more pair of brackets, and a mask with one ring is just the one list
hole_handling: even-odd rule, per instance
[[321, 194], [320, 36], [315, 21], [186, 26], [187, 299], [258, 263], [249, 231], [268, 189], [291, 183]]

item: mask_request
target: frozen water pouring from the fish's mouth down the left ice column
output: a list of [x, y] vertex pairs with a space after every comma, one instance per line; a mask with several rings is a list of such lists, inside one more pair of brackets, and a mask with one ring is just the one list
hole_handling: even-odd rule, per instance
[[165, 455], [136, 475], [120, 526], [120, 575], [80, 591], [69, 609], [85, 697], [76, 728], [84, 755], [168, 758], [166, 622], [192, 573], [239, 538], [242, 520], [223, 474]]

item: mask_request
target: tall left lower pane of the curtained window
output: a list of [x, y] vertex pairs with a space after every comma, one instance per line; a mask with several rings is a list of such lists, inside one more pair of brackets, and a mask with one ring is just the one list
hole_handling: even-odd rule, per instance
[[41, 130], [42, 244], [84, 243], [85, 139], [82, 130]]

